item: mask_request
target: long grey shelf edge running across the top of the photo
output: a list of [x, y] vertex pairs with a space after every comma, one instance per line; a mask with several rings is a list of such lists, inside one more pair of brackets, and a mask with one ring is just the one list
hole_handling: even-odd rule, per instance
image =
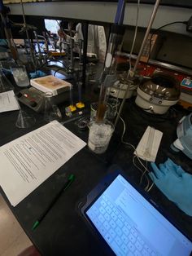
[[[51, 17], [63, 17], [67, 19], [89, 20], [96, 22], [113, 23], [116, 15], [117, 2], [27, 2], [24, 3], [25, 15], [40, 15]], [[11, 15], [22, 15], [21, 5], [13, 3], [7, 5], [11, 9]], [[146, 27], [153, 10], [153, 5], [141, 4], [138, 25]], [[135, 25], [136, 23], [137, 4], [126, 3], [124, 13], [124, 24]], [[157, 29], [164, 24], [177, 20], [189, 20], [191, 15], [190, 8], [159, 6], [155, 17], [153, 29]], [[172, 24], [164, 30], [190, 35], [186, 32], [184, 24]]]

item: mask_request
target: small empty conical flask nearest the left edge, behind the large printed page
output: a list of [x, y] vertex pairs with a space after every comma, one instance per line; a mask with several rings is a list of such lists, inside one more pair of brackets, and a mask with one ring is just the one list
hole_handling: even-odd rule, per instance
[[35, 117], [28, 115], [28, 113], [24, 112], [23, 109], [20, 109], [17, 121], [15, 122], [15, 126], [18, 128], [29, 128], [34, 126], [35, 122]]

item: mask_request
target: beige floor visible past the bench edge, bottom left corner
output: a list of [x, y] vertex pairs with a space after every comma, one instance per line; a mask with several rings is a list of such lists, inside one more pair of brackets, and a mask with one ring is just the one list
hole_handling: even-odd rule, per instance
[[32, 245], [0, 194], [0, 256], [17, 256]]

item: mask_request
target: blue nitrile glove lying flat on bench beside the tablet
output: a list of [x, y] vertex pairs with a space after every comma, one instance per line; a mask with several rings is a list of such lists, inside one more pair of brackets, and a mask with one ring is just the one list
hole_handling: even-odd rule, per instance
[[149, 176], [157, 188], [185, 214], [192, 216], [192, 175], [171, 159], [159, 164], [159, 168], [151, 162], [151, 167], [154, 172], [150, 172]]

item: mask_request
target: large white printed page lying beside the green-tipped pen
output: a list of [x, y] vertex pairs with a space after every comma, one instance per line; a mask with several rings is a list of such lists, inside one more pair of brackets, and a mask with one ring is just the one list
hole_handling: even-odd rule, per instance
[[3, 145], [0, 185], [11, 205], [19, 204], [85, 144], [58, 121], [51, 121]]

